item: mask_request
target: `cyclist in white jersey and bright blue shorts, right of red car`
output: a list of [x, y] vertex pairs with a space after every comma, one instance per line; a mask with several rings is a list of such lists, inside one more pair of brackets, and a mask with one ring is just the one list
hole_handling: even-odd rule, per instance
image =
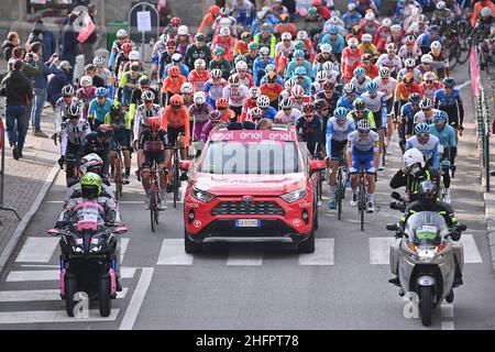
[[367, 119], [358, 122], [358, 130], [348, 135], [348, 165], [351, 178], [352, 200], [351, 207], [358, 205], [359, 173], [364, 166], [367, 179], [367, 212], [375, 212], [375, 174], [374, 160], [378, 153], [380, 136], [372, 131], [372, 124]]

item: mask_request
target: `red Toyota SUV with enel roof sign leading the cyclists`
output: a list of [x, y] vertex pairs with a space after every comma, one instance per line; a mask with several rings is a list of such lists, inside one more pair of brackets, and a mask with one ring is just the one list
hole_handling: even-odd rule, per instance
[[316, 177], [324, 161], [310, 161], [294, 128], [212, 131], [189, 168], [184, 199], [185, 250], [209, 239], [290, 238], [315, 251]]

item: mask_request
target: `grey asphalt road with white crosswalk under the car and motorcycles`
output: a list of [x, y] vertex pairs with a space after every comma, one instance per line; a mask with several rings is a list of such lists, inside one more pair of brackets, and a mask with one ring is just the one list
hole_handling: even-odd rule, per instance
[[[461, 85], [468, 66], [454, 72]], [[463, 235], [464, 285], [452, 305], [433, 315], [428, 329], [494, 329], [495, 279], [480, 186], [470, 86], [462, 90], [466, 110], [452, 206]], [[315, 254], [299, 255], [288, 243], [212, 243], [204, 253], [184, 253], [182, 205], [162, 215], [156, 234], [142, 204], [138, 182], [124, 188], [121, 211], [130, 232], [123, 238], [123, 297], [102, 319], [90, 306], [88, 319], [67, 318], [57, 296], [56, 241], [45, 231], [55, 223], [65, 193], [59, 174], [0, 277], [0, 330], [3, 329], [425, 329], [406, 319], [405, 301], [387, 283], [385, 224], [398, 212], [388, 209], [388, 180], [398, 168], [399, 150], [380, 173], [378, 212], [366, 216], [361, 232], [358, 211], [348, 204], [337, 220], [326, 201], [320, 207]], [[349, 201], [349, 199], [348, 199]]]

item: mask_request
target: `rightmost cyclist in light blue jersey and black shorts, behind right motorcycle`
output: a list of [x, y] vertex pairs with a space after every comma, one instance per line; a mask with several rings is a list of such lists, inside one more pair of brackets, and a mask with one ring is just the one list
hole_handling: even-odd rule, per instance
[[444, 202], [450, 204], [450, 169], [455, 169], [454, 162], [458, 146], [455, 131], [451, 125], [447, 124], [449, 116], [446, 111], [437, 111], [433, 116], [433, 123], [430, 124], [430, 133], [440, 140], [439, 158], [444, 186], [442, 199]]

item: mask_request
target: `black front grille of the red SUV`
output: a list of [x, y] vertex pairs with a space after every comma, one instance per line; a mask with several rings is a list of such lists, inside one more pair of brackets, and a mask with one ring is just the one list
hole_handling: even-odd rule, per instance
[[274, 201], [222, 201], [211, 216], [284, 216], [285, 211]]

